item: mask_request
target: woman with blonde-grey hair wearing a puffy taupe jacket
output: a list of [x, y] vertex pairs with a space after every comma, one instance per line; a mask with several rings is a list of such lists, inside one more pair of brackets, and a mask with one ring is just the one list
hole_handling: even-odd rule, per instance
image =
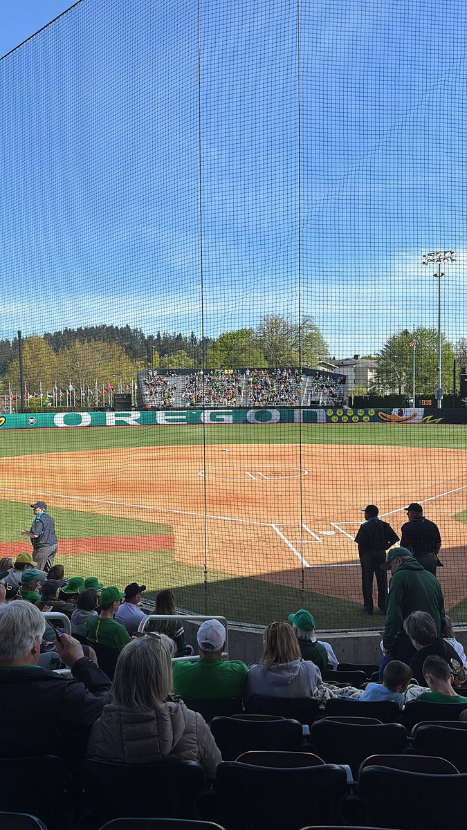
[[172, 662], [162, 637], [150, 633], [120, 652], [111, 703], [94, 724], [87, 754], [94, 758], [149, 764], [192, 760], [208, 778], [222, 757], [204, 718], [170, 699]]

